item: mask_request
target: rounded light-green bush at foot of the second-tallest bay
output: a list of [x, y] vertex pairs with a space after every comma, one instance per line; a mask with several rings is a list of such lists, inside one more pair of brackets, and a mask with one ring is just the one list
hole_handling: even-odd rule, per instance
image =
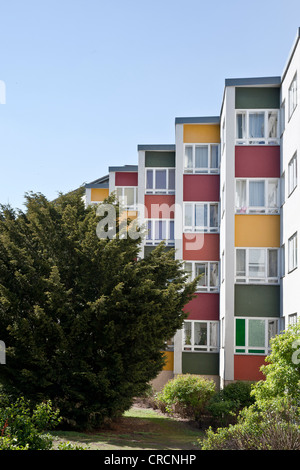
[[209, 399], [215, 393], [213, 380], [184, 374], [170, 380], [157, 395], [158, 406], [168, 413], [198, 420]]

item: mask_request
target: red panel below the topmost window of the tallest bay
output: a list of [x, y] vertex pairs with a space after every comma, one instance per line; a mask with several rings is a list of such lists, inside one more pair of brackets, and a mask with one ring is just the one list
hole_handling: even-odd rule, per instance
[[235, 147], [237, 178], [279, 178], [280, 147], [278, 145], [240, 145]]

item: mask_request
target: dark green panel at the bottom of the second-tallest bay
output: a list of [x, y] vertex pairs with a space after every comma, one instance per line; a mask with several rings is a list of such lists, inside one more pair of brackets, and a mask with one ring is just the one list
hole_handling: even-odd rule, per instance
[[182, 373], [219, 375], [219, 354], [183, 352]]

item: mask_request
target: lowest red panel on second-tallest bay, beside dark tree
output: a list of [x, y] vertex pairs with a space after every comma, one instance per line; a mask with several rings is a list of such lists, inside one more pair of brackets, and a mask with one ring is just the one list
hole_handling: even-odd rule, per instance
[[196, 294], [184, 311], [189, 313], [188, 320], [219, 320], [219, 294]]

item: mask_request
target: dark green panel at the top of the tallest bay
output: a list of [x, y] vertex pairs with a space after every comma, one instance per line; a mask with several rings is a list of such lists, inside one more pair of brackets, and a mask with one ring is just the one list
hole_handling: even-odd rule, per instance
[[279, 88], [241, 87], [235, 89], [236, 109], [280, 108]]

